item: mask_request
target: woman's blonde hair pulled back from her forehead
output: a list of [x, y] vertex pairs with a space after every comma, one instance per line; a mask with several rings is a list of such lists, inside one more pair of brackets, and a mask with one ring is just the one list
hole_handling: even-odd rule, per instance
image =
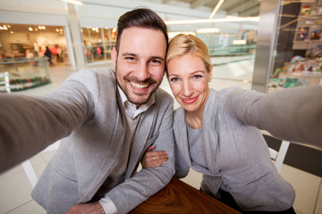
[[191, 34], [179, 34], [171, 39], [166, 53], [165, 62], [168, 64], [168, 62], [173, 60], [175, 57], [182, 56], [186, 53], [199, 56], [201, 60], [205, 62], [207, 71], [210, 72], [211, 62], [207, 45], [205, 45], [199, 37], [195, 37]]

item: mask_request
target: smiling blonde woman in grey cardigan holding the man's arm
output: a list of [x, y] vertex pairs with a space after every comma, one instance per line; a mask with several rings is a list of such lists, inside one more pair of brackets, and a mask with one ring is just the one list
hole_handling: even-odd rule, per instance
[[[209, 89], [212, 65], [207, 46], [178, 35], [166, 57], [175, 99], [176, 177], [189, 168], [202, 173], [200, 190], [242, 212], [294, 213], [295, 193], [270, 160], [259, 131], [321, 147], [322, 86], [285, 89], [270, 95], [231, 87]], [[258, 129], [259, 128], [259, 129]], [[146, 153], [143, 167], [166, 161], [164, 152]]]

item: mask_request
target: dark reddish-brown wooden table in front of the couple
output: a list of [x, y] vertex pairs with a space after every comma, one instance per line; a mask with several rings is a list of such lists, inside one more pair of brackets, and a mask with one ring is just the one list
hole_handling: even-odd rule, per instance
[[240, 213], [187, 185], [176, 177], [158, 193], [141, 203], [130, 214], [147, 213]]

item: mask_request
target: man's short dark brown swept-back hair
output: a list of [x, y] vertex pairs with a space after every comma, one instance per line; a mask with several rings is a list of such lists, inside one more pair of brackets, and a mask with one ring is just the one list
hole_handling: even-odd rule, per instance
[[148, 8], [138, 8], [130, 12], [125, 12], [117, 22], [118, 33], [115, 44], [115, 49], [117, 53], [120, 48], [120, 40], [123, 33], [123, 29], [128, 29], [131, 27], [161, 30], [165, 35], [165, 43], [167, 50], [168, 36], [165, 22], [157, 15], [156, 12], [153, 12]]

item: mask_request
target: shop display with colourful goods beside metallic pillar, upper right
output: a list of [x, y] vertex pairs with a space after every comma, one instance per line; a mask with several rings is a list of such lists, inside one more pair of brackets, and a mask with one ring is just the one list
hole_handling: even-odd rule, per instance
[[320, 0], [263, 0], [253, 89], [322, 85]]

